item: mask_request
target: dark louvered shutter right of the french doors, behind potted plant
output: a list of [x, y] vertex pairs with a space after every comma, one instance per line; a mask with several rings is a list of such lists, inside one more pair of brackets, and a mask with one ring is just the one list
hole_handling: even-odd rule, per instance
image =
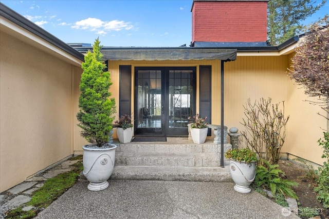
[[[200, 66], [199, 70], [199, 114], [207, 116], [207, 122], [211, 124], [211, 66]], [[210, 135], [211, 129], [208, 129]]]

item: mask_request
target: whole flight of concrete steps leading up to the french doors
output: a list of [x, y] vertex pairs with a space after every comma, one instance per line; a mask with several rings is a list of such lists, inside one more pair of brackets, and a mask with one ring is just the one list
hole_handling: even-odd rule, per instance
[[[224, 152], [231, 148], [224, 145]], [[229, 161], [221, 167], [221, 145], [177, 138], [165, 143], [127, 143], [116, 149], [113, 180], [232, 182]]]

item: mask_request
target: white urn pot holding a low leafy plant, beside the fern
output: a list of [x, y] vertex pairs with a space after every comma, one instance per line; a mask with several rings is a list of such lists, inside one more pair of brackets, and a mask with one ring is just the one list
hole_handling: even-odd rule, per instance
[[230, 159], [230, 173], [235, 183], [235, 191], [241, 193], [249, 193], [251, 191], [249, 186], [256, 175], [255, 162], [246, 163]]

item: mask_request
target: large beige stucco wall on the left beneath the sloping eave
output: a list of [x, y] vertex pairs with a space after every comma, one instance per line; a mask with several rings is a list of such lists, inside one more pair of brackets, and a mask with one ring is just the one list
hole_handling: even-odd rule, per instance
[[68, 64], [1, 31], [0, 192], [73, 154], [74, 78]]

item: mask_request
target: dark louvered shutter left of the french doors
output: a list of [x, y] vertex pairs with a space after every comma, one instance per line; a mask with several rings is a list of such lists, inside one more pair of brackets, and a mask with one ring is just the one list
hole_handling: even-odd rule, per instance
[[132, 115], [132, 67], [119, 66], [119, 116]]

